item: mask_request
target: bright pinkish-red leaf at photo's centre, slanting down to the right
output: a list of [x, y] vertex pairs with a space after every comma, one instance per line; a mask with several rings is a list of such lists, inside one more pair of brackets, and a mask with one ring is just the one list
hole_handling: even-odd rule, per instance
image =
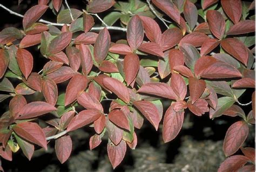
[[124, 86], [123, 83], [119, 80], [114, 78], [104, 78], [103, 85], [126, 103], [130, 101], [129, 91], [127, 87]]

